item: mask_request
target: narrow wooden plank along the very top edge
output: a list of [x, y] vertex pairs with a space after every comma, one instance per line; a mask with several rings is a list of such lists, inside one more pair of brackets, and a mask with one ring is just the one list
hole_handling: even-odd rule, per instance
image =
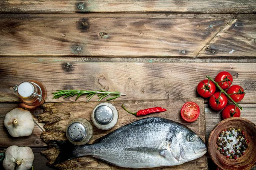
[[180, 12], [209, 14], [253, 14], [253, 0], [3, 0], [1, 13], [77, 13], [77, 12]]

